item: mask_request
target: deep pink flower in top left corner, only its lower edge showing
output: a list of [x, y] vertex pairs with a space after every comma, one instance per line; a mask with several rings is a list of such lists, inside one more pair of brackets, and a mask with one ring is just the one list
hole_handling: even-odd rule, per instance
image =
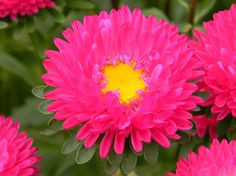
[[52, 0], [0, 0], [0, 18], [10, 16], [15, 20], [18, 15], [31, 16], [39, 9], [55, 7]]

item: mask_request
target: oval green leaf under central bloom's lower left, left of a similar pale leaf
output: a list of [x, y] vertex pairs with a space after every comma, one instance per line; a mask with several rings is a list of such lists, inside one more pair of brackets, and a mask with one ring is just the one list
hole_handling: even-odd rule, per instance
[[76, 139], [76, 134], [70, 136], [62, 146], [62, 154], [69, 154], [75, 151], [81, 143]]

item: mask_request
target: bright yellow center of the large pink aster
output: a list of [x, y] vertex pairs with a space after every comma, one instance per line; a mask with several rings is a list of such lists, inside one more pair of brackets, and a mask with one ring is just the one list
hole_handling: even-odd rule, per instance
[[103, 93], [109, 91], [119, 91], [120, 103], [129, 104], [130, 101], [139, 97], [137, 91], [144, 91], [146, 85], [142, 76], [142, 71], [134, 70], [134, 63], [127, 65], [123, 62], [117, 65], [107, 65], [103, 69], [106, 86], [102, 89]]

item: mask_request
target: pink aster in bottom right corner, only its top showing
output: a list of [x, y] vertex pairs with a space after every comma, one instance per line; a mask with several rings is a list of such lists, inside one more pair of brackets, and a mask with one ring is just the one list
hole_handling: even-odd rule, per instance
[[210, 149], [201, 146], [198, 154], [190, 152], [188, 159], [180, 158], [176, 174], [166, 176], [235, 176], [236, 141], [221, 143], [214, 139]]

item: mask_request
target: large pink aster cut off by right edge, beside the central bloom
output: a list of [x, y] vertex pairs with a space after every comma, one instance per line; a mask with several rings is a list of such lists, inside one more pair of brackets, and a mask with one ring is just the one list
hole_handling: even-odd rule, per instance
[[236, 5], [228, 11], [214, 14], [214, 20], [204, 23], [206, 32], [195, 31], [192, 42], [196, 56], [204, 64], [206, 75], [203, 90], [210, 92], [205, 105], [212, 105], [217, 120], [230, 113], [236, 117]]

